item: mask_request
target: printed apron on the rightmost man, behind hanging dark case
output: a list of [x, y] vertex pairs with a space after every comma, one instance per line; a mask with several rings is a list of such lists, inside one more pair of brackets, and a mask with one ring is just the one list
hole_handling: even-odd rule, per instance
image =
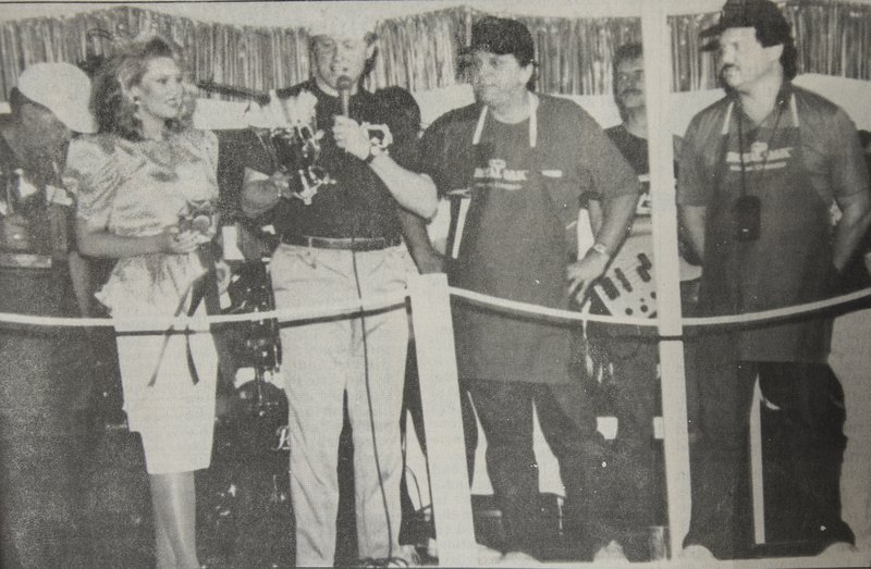
[[[745, 135], [745, 191], [761, 202], [759, 238], [749, 243], [736, 238], [732, 211], [741, 195], [741, 148], [734, 132], [726, 135], [707, 210], [701, 316], [788, 307], [833, 293], [830, 205], [805, 169], [795, 98], [790, 99], [790, 108], [784, 102], [776, 111], [782, 115], [774, 127], [765, 121], [756, 133]], [[726, 121], [738, 112], [736, 106]], [[737, 360], [819, 362], [825, 361], [830, 331], [830, 320], [803, 314], [757, 323], [719, 338], [736, 350]]]

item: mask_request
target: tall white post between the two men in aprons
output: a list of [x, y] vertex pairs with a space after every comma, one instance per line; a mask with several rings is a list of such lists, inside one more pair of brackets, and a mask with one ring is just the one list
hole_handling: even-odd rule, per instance
[[[677, 210], [674, 189], [674, 151], [667, 121], [672, 82], [671, 34], [665, 2], [642, 2], [641, 37], [645, 46], [650, 186], [653, 221], [653, 260], [657, 265], [659, 331], [670, 338], [683, 333], [680, 323]], [[665, 447], [665, 485], [668, 494], [668, 535], [674, 557], [689, 529], [689, 437], [687, 434], [684, 343], [660, 342], [662, 419]]]

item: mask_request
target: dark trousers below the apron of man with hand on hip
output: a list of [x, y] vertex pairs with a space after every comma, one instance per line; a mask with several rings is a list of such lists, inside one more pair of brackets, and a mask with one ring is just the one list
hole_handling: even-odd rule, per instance
[[592, 519], [611, 494], [610, 456], [580, 386], [480, 380], [467, 386], [487, 436], [487, 472], [508, 548], [540, 557], [547, 537], [532, 449], [533, 403], [566, 487], [564, 528], [576, 533], [588, 551], [603, 545], [604, 536]]

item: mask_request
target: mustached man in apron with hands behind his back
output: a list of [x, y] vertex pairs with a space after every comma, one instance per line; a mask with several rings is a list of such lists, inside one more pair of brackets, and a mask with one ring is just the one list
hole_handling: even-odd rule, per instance
[[[832, 102], [799, 89], [789, 25], [772, 2], [728, 2], [719, 35], [727, 97], [692, 120], [677, 184], [682, 219], [703, 259], [701, 316], [739, 314], [831, 297], [869, 223], [856, 129]], [[739, 330], [707, 329], [699, 350], [702, 440], [694, 449], [685, 555], [747, 555], [748, 418], [753, 384], [793, 435], [802, 539], [847, 547], [838, 475], [843, 395], [826, 364], [831, 320], [800, 314]]]

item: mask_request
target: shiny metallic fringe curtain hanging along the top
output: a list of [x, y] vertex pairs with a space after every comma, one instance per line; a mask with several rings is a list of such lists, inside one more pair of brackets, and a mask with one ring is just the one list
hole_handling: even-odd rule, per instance
[[[846, 0], [787, 0], [781, 5], [797, 38], [799, 73], [871, 79], [871, 5]], [[367, 87], [400, 85], [416, 91], [463, 81], [459, 49], [468, 42], [473, 22], [483, 15], [470, 8], [453, 8], [381, 22], [377, 29], [381, 51]], [[702, 52], [699, 41], [699, 33], [716, 17], [668, 18], [673, 90], [716, 85], [713, 54]], [[640, 20], [633, 17], [517, 18], [536, 40], [538, 88], [544, 92], [610, 94], [614, 50], [639, 41], [641, 35]], [[94, 29], [123, 38], [147, 30], [165, 35], [184, 47], [197, 81], [267, 90], [293, 85], [309, 74], [305, 29], [209, 24], [119, 7], [70, 17], [0, 23], [0, 100], [30, 63], [75, 63], [110, 49], [108, 41], [89, 34]]]

